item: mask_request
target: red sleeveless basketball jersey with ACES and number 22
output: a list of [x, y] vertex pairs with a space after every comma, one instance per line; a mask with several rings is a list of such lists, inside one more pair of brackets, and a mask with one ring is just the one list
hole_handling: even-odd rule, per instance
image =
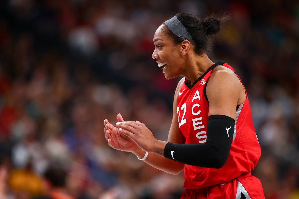
[[[206, 142], [209, 102], [205, 94], [205, 87], [211, 72], [218, 65], [233, 70], [225, 62], [219, 61], [213, 64], [193, 85], [190, 85], [185, 80], [180, 89], [177, 113], [179, 116], [179, 127], [186, 138], [185, 144]], [[185, 165], [184, 188], [200, 189], [225, 183], [242, 174], [244, 175], [244, 173], [249, 173], [256, 166], [260, 153], [260, 144], [254, 130], [246, 93], [245, 102], [237, 106], [233, 141], [225, 165], [220, 169]]]

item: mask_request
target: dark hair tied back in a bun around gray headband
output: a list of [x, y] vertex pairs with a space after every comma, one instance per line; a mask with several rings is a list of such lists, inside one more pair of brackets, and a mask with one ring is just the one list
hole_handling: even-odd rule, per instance
[[[195, 15], [189, 13], [178, 13], [176, 17], [181, 24], [188, 30], [197, 46], [195, 47], [195, 53], [201, 55], [208, 45], [208, 37], [210, 35], [215, 36], [220, 30], [220, 23], [227, 21], [230, 16], [228, 14], [222, 15], [210, 15], [201, 19]], [[165, 23], [163, 23], [165, 24]], [[176, 36], [166, 25], [164, 33], [173, 38], [175, 44], [179, 44], [183, 39]], [[213, 37], [212, 36], [212, 37]], [[209, 37], [210, 38], [210, 37]]]

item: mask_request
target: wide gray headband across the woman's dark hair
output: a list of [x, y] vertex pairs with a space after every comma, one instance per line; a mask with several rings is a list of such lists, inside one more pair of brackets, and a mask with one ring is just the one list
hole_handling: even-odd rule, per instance
[[196, 42], [194, 41], [188, 30], [184, 27], [184, 25], [179, 21], [179, 19], [176, 16], [168, 19], [164, 23], [176, 36], [178, 36], [181, 39], [188, 40], [191, 44], [197, 46]]

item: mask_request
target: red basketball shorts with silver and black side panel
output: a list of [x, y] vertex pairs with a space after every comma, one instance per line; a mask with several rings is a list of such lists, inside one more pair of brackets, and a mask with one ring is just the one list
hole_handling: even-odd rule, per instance
[[240, 199], [241, 194], [246, 199], [265, 199], [260, 180], [249, 173], [206, 189], [187, 189], [181, 199]]

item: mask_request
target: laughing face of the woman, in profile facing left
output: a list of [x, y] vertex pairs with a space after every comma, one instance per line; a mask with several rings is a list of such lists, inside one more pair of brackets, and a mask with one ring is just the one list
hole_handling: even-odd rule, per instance
[[162, 24], [155, 32], [155, 50], [152, 58], [157, 60], [159, 67], [162, 67], [165, 78], [171, 79], [183, 74], [184, 60], [181, 44], [175, 44], [173, 39], [165, 34], [165, 26]]

